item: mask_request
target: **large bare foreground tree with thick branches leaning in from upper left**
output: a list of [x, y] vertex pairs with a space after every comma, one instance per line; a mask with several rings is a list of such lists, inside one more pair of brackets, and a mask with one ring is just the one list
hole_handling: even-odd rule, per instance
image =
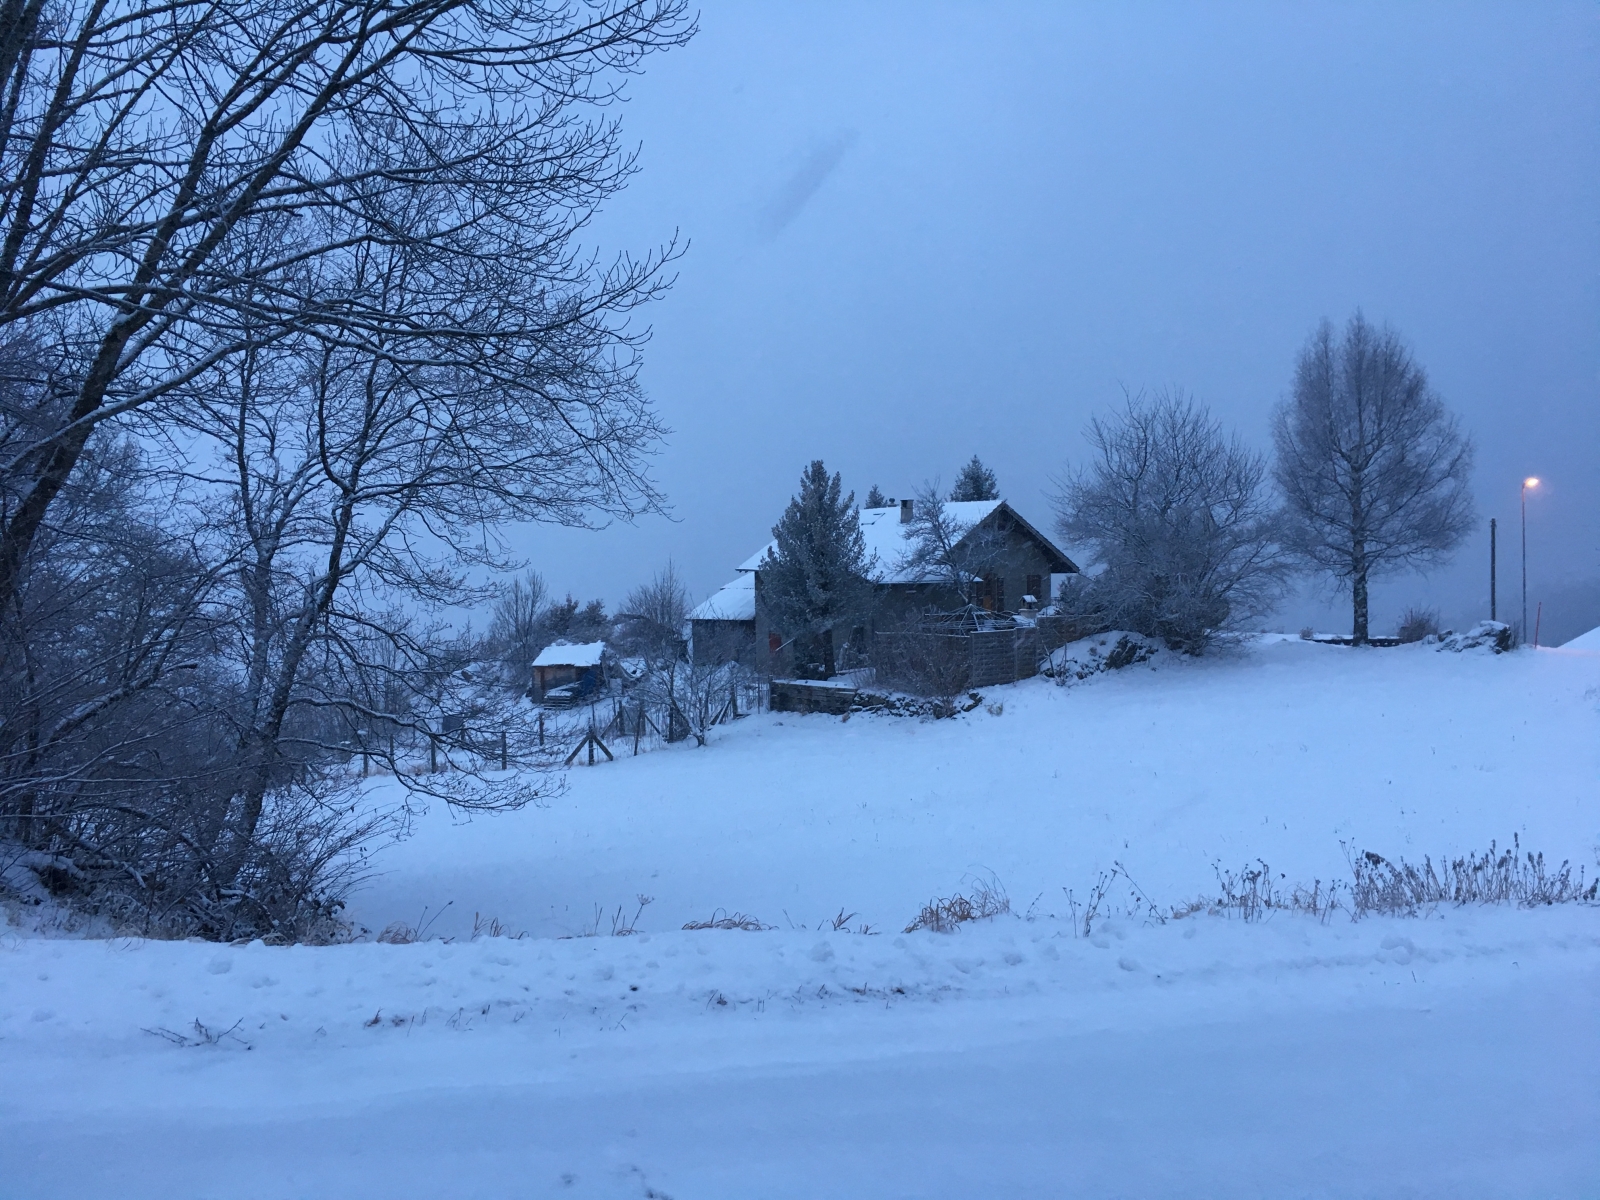
[[[691, 32], [680, 0], [6, 0], [0, 336], [42, 363], [0, 430], [0, 608], [93, 432], [162, 429], [250, 347], [382, 336], [501, 381], [565, 330], [626, 355], [608, 317], [662, 259], [574, 248], [632, 170], [586, 112]], [[328, 286], [394, 245], [470, 301]]]

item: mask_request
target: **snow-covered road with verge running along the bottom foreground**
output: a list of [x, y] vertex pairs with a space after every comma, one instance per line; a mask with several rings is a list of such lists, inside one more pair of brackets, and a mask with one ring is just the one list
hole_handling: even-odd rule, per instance
[[[1018, 918], [899, 938], [16, 939], [0, 963], [0, 1064], [29, 1082], [0, 1099], [18, 1198], [1600, 1182], [1592, 907], [1093, 939]], [[195, 1040], [195, 1019], [234, 1032], [144, 1032]]]

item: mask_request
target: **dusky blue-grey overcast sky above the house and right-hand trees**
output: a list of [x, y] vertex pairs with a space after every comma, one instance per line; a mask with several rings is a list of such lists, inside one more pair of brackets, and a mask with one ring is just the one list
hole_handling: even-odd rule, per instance
[[[1530, 622], [1550, 597], [1600, 624], [1600, 6], [714, 0], [699, 26], [630, 85], [640, 173], [586, 234], [686, 243], [645, 317], [670, 515], [510, 531], [557, 594], [614, 605], [670, 558], [702, 598], [813, 458], [859, 499], [976, 453], [1046, 528], [1123, 390], [1186, 389], [1266, 451], [1307, 336], [1360, 309], [1472, 434], [1482, 515], [1374, 587], [1374, 632], [1488, 616], [1490, 517], [1515, 610], [1526, 475]], [[1341, 622], [1309, 586], [1264, 627]]]

